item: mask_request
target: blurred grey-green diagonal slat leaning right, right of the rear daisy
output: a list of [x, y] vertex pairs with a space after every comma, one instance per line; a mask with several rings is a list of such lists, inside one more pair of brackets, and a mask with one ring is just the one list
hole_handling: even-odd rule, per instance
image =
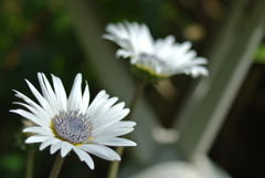
[[208, 154], [264, 36], [265, 1], [257, 0], [247, 18], [244, 3], [235, 2], [235, 9], [226, 18], [223, 38], [218, 41], [220, 49], [209, 56], [210, 76], [197, 85], [179, 115], [178, 147], [188, 160]]

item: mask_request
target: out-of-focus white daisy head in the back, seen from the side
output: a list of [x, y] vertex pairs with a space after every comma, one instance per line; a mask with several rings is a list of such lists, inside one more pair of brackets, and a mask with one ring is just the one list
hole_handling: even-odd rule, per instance
[[190, 50], [191, 43], [176, 43], [172, 35], [153, 41], [146, 24], [125, 22], [108, 24], [108, 34], [103, 38], [117, 43], [121, 49], [117, 56], [130, 57], [130, 63], [145, 74], [159, 80], [174, 74], [184, 73], [197, 77], [208, 75], [208, 70], [201, 64], [206, 64], [204, 57], [197, 57], [197, 52]]

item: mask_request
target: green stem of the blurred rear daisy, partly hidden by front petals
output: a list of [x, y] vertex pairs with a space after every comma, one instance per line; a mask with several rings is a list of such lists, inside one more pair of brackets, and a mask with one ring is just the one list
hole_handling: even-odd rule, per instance
[[[137, 102], [139, 101], [145, 87], [146, 87], [146, 82], [141, 81], [134, 94], [134, 98], [130, 103], [130, 113], [125, 118], [126, 121], [130, 121], [132, 118], [132, 114], [135, 113]], [[115, 150], [121, 157], [124, 153], [124, 146], [117, 147]], [[110, 164], [107, 178], [116, 178], [118, 174], [118, 169], [119, 169], [119, 161], [118, 160], [113, 161]]]

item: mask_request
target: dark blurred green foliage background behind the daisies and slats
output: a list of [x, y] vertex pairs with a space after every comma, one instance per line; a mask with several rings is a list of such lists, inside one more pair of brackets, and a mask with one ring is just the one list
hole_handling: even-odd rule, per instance
[[[76, 73], [82, 73], [83, 78], [89, 83], [92, 97], [103, 90], [92, 59], [85, 55], [83, 44], [77, 39], [73, 14], [68, 10], [71, 3], [73, 2], [62, 0], [0, 0], [1, 178], [24, 177], [26, 154], [31, 149], [35, 149], [33, 177], [47, 177], [54, 160], [49, 149], [39, 151], [38, 144], [23, 144], [26, 136], [21, 134], [22, 118], [9, 113], [18, 107], [12, 105], [12, 102], [18, 101], [12, 90], [33, 98], [24, 78], [38, 86], [38, 72], [46, 75], [52, 73], [61, 77], [66, 91], [70, 91]], [[80, 2], [77, 0], [74, 3]], [[254, 3], [255, 1], [246, 1], [246, 17]], [[216, 40], [220, 28], [225, 23], [231, 4], [230, 0], [87, 0], [87, 6], [97, 14], [103, 32], [109, 22], [144, 22], [155, 39], [172, 34], [178, 42], [192, 41], [192, 49], [200, 56], [210, 53], [210, 44]], [[114, 44], [113, 48], [117, 49]], [[210, 153], [213, 160], [234, 178], [265, 177], [264, 62], [263, 40], [256, 49], [251, 72]], [[128, 67], [128, 60], [123, 63], [125, 69]], [[161, 96], [151, 85], [148, 85], [145, 93], [157, 115], [156, 119], [167, 128], [176, 122], [192, 78], [177, 75], [171, 77], [171, 82], [178, 91], [172, 100]], [[123, 161], [134, 161], [128, 155], [129, 153], [125, 154]], [[71, 154], [60, 177], [105, 177], [109, 163], [97, 157], [93, 159], [96, 168], [92, 171]], [[146, 166], [138, 165], [140, 168]]]

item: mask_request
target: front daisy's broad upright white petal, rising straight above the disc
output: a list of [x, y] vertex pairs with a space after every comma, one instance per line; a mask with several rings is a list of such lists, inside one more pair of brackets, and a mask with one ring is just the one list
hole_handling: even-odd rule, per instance
[[68, 101], [67, 101], [67, 109], [70, 111], [78, 111], [82, 105], [82, 91], [81, 91], [81, 83], [82, 83], [82, 74], [77, 74], [74, 84], [72, 86]]

